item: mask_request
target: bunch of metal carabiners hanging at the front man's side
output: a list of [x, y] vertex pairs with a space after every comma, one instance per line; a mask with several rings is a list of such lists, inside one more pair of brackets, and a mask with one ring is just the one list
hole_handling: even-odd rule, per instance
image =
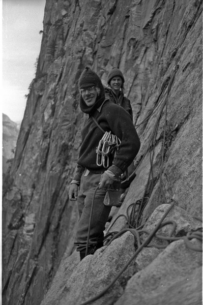
[[120, 144], [121, 140], [117, 136], [111, 134], [111, 131], [106, 131], [96, 149], [97, 165], [108, 168], [109, 156], [112, 154], [113, 159], [115, 158], [119, 151]]

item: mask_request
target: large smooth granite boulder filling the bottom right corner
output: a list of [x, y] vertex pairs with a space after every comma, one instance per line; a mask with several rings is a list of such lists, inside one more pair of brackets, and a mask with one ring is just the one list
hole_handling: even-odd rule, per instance
[[201, 254], [188, 251], [184, 241], [179, 240], [137, 272], [115, 304], [200, 305], [201, 297]]

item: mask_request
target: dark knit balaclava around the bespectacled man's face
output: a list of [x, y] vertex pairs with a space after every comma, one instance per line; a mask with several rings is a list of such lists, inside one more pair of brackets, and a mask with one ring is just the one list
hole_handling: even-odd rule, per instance
[[100, 94], [97, 96], [95, 104], [91, 107], [88, 107], [86, 105], [86, 103], [84, 102], [84, 100], [82, 98], [82, 95], [80, 95], [80, 109], [82, 110], [82, 112], [89, 113], [89, 114], [94, 113], [95, 110], [105, 100], [105, 91], [104, 91], [104, 87], [102, 85], [101, 79], [93, 70], [91, 70], [89, 67], [85, 67], [84, 71], [80, 75], [78, 85], [79, 85], [79, 89], [87, 88], [87, 87], [91, 87], [91, 86], [96, 86], [96, 87], [100, 88]]

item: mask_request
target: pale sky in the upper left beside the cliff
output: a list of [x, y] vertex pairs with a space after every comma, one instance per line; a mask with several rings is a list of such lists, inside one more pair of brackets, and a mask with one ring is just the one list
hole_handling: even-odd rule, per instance
[[2, 112], [23, 118], [28, 86], [40, 53], [45, 0], [2, 1]]

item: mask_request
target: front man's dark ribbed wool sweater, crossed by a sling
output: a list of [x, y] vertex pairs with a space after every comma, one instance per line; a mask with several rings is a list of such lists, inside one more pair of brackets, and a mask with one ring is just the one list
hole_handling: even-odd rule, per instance
[[[140, 141], [129, 113], [121, 106], [105, 100], [92, 115], [104, 131], [111, 131], [121, 140], [117, 156], [114, 160], [110, 160], [109, 170], [117, 174], [125, 172], [136, 157], [140, 147]], [[81, 132], [82, 144], [77, 161], [77, 172], [73, 177], [74, 180], [80, 180], [84, 168], [95, 173], [106, 170], [96, 163], [96, 148], [103, 135], [103, 132], [89, 115]]]

